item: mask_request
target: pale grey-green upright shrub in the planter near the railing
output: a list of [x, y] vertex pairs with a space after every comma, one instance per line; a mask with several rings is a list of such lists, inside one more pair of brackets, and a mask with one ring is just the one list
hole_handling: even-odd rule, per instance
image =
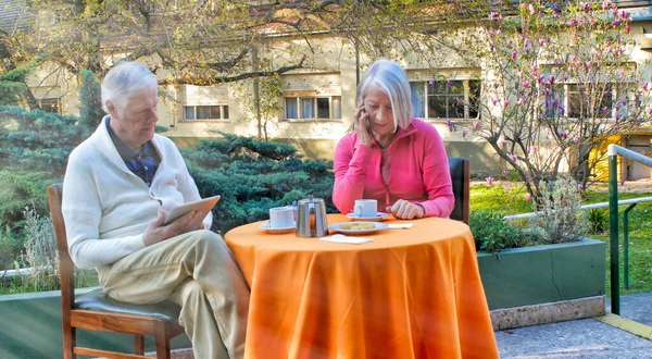
[[588, 230], [577, 182], [568, 175], [541, 185], [541, 198], [534, 201], [539, 209], [531, 221], [534, 233], [544, 244], [579, 240]]

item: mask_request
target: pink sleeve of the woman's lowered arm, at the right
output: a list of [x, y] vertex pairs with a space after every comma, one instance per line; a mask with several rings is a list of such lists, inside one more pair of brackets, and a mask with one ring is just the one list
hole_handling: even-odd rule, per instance
[[448, 218], [455, 206], [448, 156], [437, 129], [431, 128], [425, 144], [424, 185], [428, 200], [419, 202], [426, 210], [425, 216]]

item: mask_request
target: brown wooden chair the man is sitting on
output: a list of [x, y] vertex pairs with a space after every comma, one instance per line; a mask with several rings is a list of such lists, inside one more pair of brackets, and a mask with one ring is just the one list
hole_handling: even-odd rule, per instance
[[[84, 355], [115, 359], [149, 358], [145, 356], [145, 335], [152, 335], [155, 339], [156, 358], [171, 358], [170, 339], [184, 332], [178, 324], [180, 307], [176, 304], [164, 301], [156, 305], [131, 305], [111, 299], [101, 288], [75, 297], [74, 264], [61, 212], [61, 185], [48, 188], [60, 259], [63, 357], [74, 359], [77, 355]], [[77, 329], [134, 334], [136, 355], [78, 347], [75, 333]]]

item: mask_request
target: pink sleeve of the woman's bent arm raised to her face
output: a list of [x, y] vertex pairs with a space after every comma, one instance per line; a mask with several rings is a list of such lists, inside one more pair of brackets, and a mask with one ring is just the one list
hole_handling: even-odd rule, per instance
[[362, 145], [356, 147], [354, 134], [344, 136], [337, 144], [333, 160], [335, 168], [333, 202], [340, 212], [351, 212], [355, 200], [362, 198], [371, 157], [369, 147]]

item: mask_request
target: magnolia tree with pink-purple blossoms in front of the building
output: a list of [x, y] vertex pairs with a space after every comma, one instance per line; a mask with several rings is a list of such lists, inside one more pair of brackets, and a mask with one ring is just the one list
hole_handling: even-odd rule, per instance
[[511, 10], [491, 12], [463, 42], [485, 72], [472, 103], [481, 120], [461, 129], [486, 139], [528, 194], [566, 170], [586, 188], [607, 138], [651, 117], [650, 85], [630, 57], [631, 17], [609, 1]]

